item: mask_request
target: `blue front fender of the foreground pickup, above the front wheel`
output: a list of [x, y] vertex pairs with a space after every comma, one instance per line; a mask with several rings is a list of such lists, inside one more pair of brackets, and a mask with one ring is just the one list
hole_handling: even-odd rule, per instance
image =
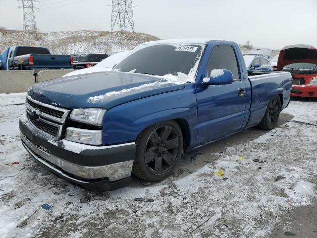
[[[135, 141], [147, 127], [171, 119], [185, 119], [196, 136], [196, 94], [193, 83], [182, 90], [162, 93], [109, 109], [103, 124], [103, 144]], [[191, 138], [196, 141], [195, 138]], [[194, 145], [193, 145], [194, 146]]]

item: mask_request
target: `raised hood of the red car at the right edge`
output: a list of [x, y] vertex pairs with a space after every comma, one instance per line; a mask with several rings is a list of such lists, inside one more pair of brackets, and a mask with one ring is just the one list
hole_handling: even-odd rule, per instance
[[279, 53], [277, 70], [282, 70], [291, 63], [317, 64], [317, 49], [311, 45], [291, 45], [284, 47]]

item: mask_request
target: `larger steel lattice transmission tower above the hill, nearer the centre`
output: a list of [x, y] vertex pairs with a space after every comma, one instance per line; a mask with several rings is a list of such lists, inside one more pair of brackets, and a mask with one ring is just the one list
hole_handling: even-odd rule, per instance
[[130, 26], [134, 32], [132, 0], [112, 0], [111, 31], [115, 24], [120, 31], [126, 31]]

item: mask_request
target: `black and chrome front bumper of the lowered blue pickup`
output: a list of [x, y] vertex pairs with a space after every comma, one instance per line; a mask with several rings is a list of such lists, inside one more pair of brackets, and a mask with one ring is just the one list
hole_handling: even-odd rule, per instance
[[50, 141], [37, 134], [24, 115], [19, 128], [28, 153], [63, 179], [91, 191], [117, 189], [131, 180], [135, 143], [92, 146], [67, 140]]

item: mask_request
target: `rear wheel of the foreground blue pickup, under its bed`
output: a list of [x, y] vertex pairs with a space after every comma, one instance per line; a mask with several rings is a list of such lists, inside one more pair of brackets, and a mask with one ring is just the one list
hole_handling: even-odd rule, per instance
[[264, 130], [271, 130], [276, 126], [281, 111], [281, 100], [278, 95], [272, 97], [267, 105], [264, 117], [259, 126]]

